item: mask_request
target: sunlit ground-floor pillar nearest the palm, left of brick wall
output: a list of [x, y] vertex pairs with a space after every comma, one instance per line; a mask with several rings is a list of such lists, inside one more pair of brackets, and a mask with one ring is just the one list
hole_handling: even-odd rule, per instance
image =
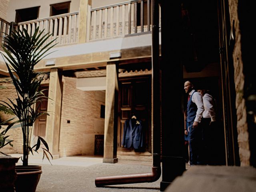
[[50, 71], [48, 97], [47, 111], [50, 116], [47, 116], [46, 121], [46, 141], [52, 155], [58, 158], [62, 100], [62, 70], [59, 68], [52, 68]]

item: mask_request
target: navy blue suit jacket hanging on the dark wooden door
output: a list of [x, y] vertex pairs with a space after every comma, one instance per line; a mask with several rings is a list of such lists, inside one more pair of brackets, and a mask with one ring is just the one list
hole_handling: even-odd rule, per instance
[[127, 119], [124, 122], [124, 132], [121, 143], [125, 148], [130, 148], [133, 145], [134, 149], [138, 149], [143, 145], [142, 122], [136, 120], [132, 126], [132, 120]]

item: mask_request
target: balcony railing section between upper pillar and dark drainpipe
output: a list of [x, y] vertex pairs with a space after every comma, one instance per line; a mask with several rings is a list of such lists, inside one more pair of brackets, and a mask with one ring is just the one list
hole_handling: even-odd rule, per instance
[[131, 0], [110, 6], [88, 6], [86, 40], [151, 31], [151, 0]]

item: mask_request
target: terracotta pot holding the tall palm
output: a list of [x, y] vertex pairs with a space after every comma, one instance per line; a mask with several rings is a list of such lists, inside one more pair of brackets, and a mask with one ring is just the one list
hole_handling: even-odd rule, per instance
[[35, 192], [42, 170], [38, 169], [16, 169], [17, 179], [15, 181], [16, 192]]

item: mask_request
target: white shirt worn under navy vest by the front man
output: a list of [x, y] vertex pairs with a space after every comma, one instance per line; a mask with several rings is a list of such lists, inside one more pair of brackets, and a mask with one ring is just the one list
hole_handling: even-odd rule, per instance
[[[195, 92], [195, 90], [192, 90], [189, 94], [192, 95]], [[196, 122], [201, 122], [201, 119], [203, 117], [203, 112], [204, 112], [204, 103], [203, 103], [203, 98], [202, 95], [198, 92], [195, 92], [192, 95], [192, 102], [194, 102], [197, 106], [197, 111], [196, 111], [196, 118], [194, 121]]]

